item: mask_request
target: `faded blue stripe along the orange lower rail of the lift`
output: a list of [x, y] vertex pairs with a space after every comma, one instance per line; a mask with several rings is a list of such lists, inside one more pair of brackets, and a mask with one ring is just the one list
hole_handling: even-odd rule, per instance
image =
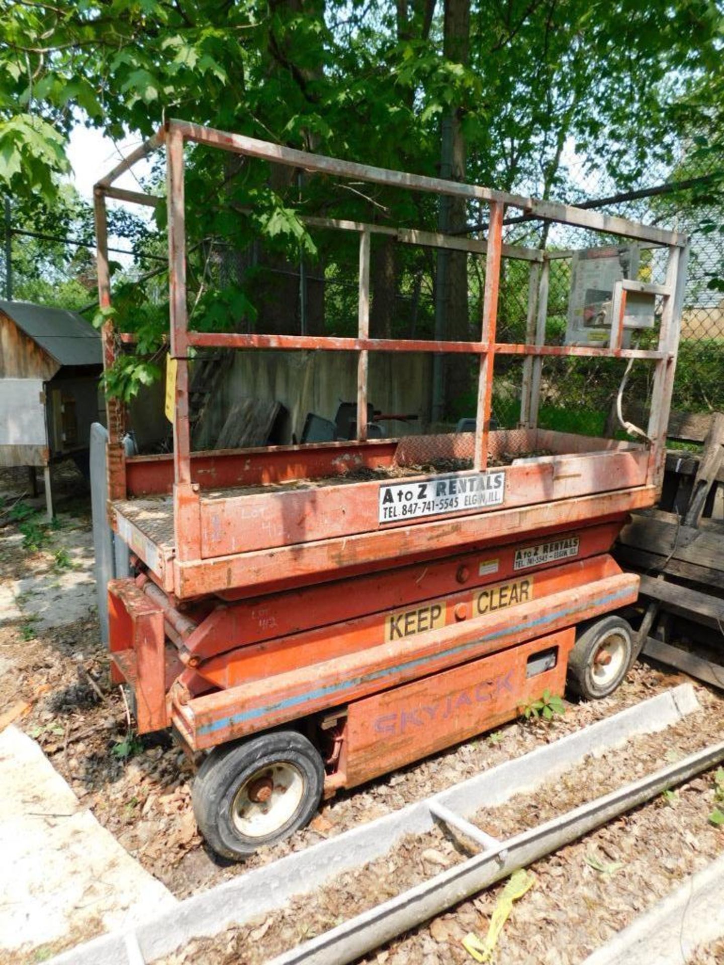
[[616, 593], [607, 593], [605, 596], [599, 596], [595, 600], [588, 600], [585, 604], [576, 607], [570, 607], [569, 609], [558, 610], [556, 613], [548, 614], [547, 616], [537, 617], [535, 620], [524, 620], [522, 623], [518, 623], [515, 626], [506, 628], [505, 630], [497, 630], [495, 633], [490, 633], [485, 637], [481, 637], [479, 640], [473, 640], [468, 644], [459, 644], [457, 647], [452, 647], [447, 650], [440, 650], [438, 653], [432, 653], [425, 657], [418, 657], [415, 660], [407, 660], [403, 664], [398, 664], [396, 667], [388, 667], [383, 670], [376, 670], [370, 674], [365, 674], [363, 676], [351, 677], [348, 680], [343, 680], [340, 683], [328, 684], [326, 687], [320, 687], [317, 690], [311, 690], [304, 694], [296, 694], [293, 697], [288, 697], [284, 701], [279, 701], [279, 703], [269, 703], [264, 707], [252, 707], [249, 710], [242, 710], [236, 714], [232, 714], [230, 717], [222, 717], [217, 721], [213, 721], [211, 724], [206, 724], [198, 729], [199, 734], [215, 733], [216, 731], [224, 731], [229, 727], [234, 727], [236, 724], [244, 724], [247, 721], [257, 720], [260, 717], [264, 717], [265, 714], [272, 713], [275, 710], [289, 710], [291, 707], [298, 706], [301, 703], [307, 703], [307, 701], [313, 701], [320, 697], [327, 697], [332, 694], [343, 694], [346, 690], [351, 690], [353, 687], [358, 686], [361, 683], [371, 683], [374, 680], [379, 680], [385, 676], [395, 676], [400, 674], [405, 670], [413, 670], [416, 667], [424, 666], [426, 663], [431, 663], [433, 660], [439, 660], [441, 657], [455, 656], [459, 653], [464, 653], [466, 650], [470, 650], [479, 647], [482, 643], [489, 640], [496, 640], [500, 637], [509, 637], [514, 633], [518, 633], [521, 630], [534, 629], [537, 627], [543, 627], [547, 623], [551, 623], [554, 620], [560, 620], [562, 617], [572, 617], [576, 613], [580, 613], [581, 610], [587, 610], [591, 606], [606, 606], [609, 603], [616, 603], [617, 600], [623, 599], [630, 593], [630, 589], [618, 590]]

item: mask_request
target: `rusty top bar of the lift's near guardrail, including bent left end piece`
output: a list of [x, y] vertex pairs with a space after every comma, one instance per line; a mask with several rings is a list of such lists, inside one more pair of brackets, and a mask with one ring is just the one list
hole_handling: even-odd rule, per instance
[[287, 148], [283, 145], [260, 141], [244, 134], [233, 134], [216, 130], [203, 124], [191, 124], [186, 121], [169, 120], [165, 126], [157, 131], [150, 140], [131, 152], [125, 160], [117, 165], [104, 178], [97, 181], [97, 188], [107, 188], [125, 171], [131, 168], [141, 158], [154, 151], [163, 144], [166, 133], [178, 131], [184, 140], [197, 144], [208, 144], [223, 151], [245, 154], [249, 157], [259, 157], [263, 160], [286, 164], [305, 171], [316, 171], [320, 174], [335, 175], [344, 178], [355, 178], [372, 181], [377, 184], [388, 184], [393, 187], [409, 188], [415, 191], [426, 191], [434, 194], [445, 194], [471, 200], [486, 201], [488, 203], [502, 203], [506, 207], [516, 207], [533, 217], [543, 221], [557, 221], [578, 228], [587, 228], [606, 234], [621, 237], [637, 238], [641, 241], [652, 241], [661, 245], [676, 245], [684, 247], [687, 238], [680, 232], [670, 232], [653, 225], [642, 225], [617, 215], [605, 214], [590, 208], [562, 205], [552, 201], [540, 201], [523, 195], [510, 194], [506, 191], [495, 191], [477, 184], [461, 181], [451, 181], [442, 178], [430, 178], [425, 175], [411, 175], [403, 171], [392, 171], [378, 168], [374, 165], [359, 164], [356, 161], [345, 161], [322, 154], [313, 154]]

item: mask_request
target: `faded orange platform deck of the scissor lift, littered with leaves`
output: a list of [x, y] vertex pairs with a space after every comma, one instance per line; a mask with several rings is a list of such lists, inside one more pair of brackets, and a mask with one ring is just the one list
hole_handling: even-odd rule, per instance
[[[219, 477], [234, 478], [239, 456], [199, 454], [199, 460], [207, 465], [206, 471], [199, 474], [202, 482], [195, 483], [200, 496], [200, 539], [192, 558], [181, 563], [175, 560], [173, 498], [163, 493], [163, 477], [170, 483], [171, 466], [168, 460], [155, 456], [133, 457], [126, 463], [129, 479], [133, 480], [136, 467], [143, 467], [145, 482], [139, 479], [136, 483], [140, 488], [136, 498], [112, 503], [115, 527], [151, 568], [159, 585], [184, 599], [200, 592], [267, 592], [272, 586], [278, 587], [303, 574], [323, 578], [326, 572], [327, 578], [334, 578], [340, 571], [360, 563], [374, 565], [382, 561], [383, 565], [392, 565], [408, 554], [431, 552], [432, 545], [443, 550], [468, 542], [480, 543], [481, 510], [486, 512], [489, 541], [491, 535], [500, 538], [510, 532], [510, 510], [518, 510], [515, 528], [532, 532], [547, 527], [554, 518], [560, 525], [567, 520], [585, 522], [601, 514], [623, 513], [648, 505], [652, 499], [651, 492], [646, 491], [650, 457], [646, 447], [563, 432], [517, 429], [489, 433], [488, 452], [498, 463], [498, 476], [494, 479], [501, 482], [502, 491], [499, 502], [476, 508], [469, 504], [480, 499], [481, 490], [476, 489], [478, 475], [463, 470], [431, 476], [420, 470], [420, 464], [431, 458], [462, 461], [465, 453], [472, 453], [473, 444], [472, 434], [464, 433], [392, 440], [384, 454], [375, 446], [371, 458], [366, 457], [364, 443], [356, 453], [345, 445], [343, 458], [336, 455], [333, 443], [256, 450], [244, 453], [243, 467], [236, 470], [237, 480], [241, 477], [249, 484], [223, 488], [206, 487]], [[304, 449], [311, 452], [304, 453]], [[573, 449], [578, 452], [572, 452]], [[563, 455], [533, 459], [524, 455], [557, 450]], [[522, 457], [516, 457], [516, 451]], [[264, 482], [265, 461], [270, 455], [286, 458], [286, 469]], [[507, 466], [500, 464], [504, 456]], [[309, 474], [309, 466], [301, 461], [305, 457], [314, 459], [317, 472], [323, 474], [320, 478], [295, 478], [297, 472]], [[301, 461], [297, 467], [295, 459]], [[192, 478], [194, 462], [192, 456]], [[355, 469], [360, 468], [376, 470], [379, 479], [359, 482]], [[444, 490], [446, 495], [437, 498], [457, 497], [459, 510], [443, 511], [432, 520], [430, 515], [385, 519], [385, 496], [394, 499], [401, 490], [406, 494], [410, 491], [407, 486], [414, 483], [418, 483], [414, 496], [425, 488], [426, 494], [431, 494], [427, 500], [431, 503], [434, 493]], [[154, 485], [162, 487], [160, 493], [153, 492]], [[603, 493], [610, 495], [602, 503], [586, 499]], [[618, 498], [615, 493], [619, 493]], [[577, 500], [575, 505], [565, 509], [550, 506], [573, 499]], [[419, 506], [420, 502], [415, 500], [413, 505]], [[459, 520], [459, 524], [451, 527], [453, 519]], [[385, 537], [393, 530], [392, 538]], [[350, 540], [351, 537], [357, 539]], [[450, 538], [452, 542], [448, 541]], [[396, 549], [390, 559], [392, 545]], [[271, 556], [264, 553], [268, 550], [277, 552]], [[285, 550], [293, 554], [294, 565], [292, 571], [282, 573], [280, 553], [283, 556]], [[363, 560], [360, 552], [366, 554]], [[266, 559], [276, 561], [273, 574], [264, 566]], [[230, 567], [234, 574], [231, 583]]]

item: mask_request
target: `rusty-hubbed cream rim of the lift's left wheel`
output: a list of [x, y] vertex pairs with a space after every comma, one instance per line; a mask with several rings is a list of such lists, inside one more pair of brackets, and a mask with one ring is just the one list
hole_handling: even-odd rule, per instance
[[245, 838], [265, 838], [284, 827], [304, 794], [304, 778], [294, 764], [267, 764], [238, 788], [232, 819]]

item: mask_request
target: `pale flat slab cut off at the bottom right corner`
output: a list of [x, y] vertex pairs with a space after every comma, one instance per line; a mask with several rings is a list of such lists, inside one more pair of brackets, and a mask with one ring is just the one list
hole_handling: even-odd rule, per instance
[[724, 935], [724, 855], [601, 946], [584, 965], [685, 965]]

